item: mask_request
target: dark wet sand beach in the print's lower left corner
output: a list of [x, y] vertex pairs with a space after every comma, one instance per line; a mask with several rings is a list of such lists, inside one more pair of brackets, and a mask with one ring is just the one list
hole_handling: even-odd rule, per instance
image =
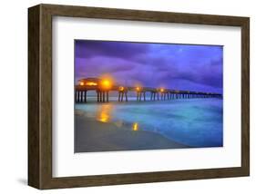
[[189, 148], [156, 132], [124, 128], [111, 122], [95, 121], [76, 111], [75, 152]]

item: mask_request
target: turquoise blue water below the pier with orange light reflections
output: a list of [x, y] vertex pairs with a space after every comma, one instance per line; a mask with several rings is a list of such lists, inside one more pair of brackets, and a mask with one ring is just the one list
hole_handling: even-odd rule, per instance
[[77, 110], [119, 130], [154, 131], [190, 147], [221, 147], [222, 100], [183, 99], [159, 102], [88, 102]]

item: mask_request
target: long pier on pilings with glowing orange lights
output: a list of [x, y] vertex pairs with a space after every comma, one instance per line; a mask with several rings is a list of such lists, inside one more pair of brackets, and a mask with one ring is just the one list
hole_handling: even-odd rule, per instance
[[78, 84], [75, 86], [75, 101], [87, 102], [88, 91], [97, 92], [97, 102], [109, 102], [109, 92], [118, 92], [118, 102], [128, 102], [128, 92], [136, 92], [138, 102], [148, 101], [146, 99], [146, 93], [149, 93], [149, 101], [222, 97], [220, 93], [216, 92], [193, 92], [166, 89], [162, 87], [124, 86], [112, 84], [109, 80], [85, 78], [79, 80]]

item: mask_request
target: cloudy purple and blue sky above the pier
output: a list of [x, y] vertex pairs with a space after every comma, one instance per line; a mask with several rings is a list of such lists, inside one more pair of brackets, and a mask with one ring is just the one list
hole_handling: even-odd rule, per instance
[[223, 46], [75, 41], [75, 79], [111, 76], [118, 85], [222, 93]]

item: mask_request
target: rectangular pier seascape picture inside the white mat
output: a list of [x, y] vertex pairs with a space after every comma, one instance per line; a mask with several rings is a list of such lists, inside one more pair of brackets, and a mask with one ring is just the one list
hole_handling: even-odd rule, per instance
[[75, 40], [75, 153], [223, 146], [223, 46]]

